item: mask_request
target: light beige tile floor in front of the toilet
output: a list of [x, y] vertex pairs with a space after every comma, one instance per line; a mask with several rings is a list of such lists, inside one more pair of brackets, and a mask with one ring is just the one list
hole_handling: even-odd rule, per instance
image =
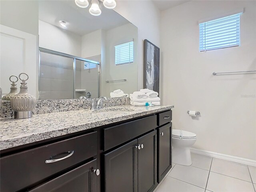
[[172, 164], [154, 192], [256, 192], [256, 167], [191, 154], [192, 165]]

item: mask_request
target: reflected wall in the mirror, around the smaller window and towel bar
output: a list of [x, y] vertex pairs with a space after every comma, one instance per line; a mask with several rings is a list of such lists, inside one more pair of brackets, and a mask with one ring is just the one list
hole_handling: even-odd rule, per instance
[[[106, 60], [102, 62], [101, 86], [102, 95], [110, 97], [110, 92], [122, 89], [124, 93], [132, 93], [137, 90], [137, 44], [138, 29], [133, 24], [125, 24], [106, 30], [105, 54]], [[134, 41], [134, 62], [115, 65], [115, 46]], [[121, 80], [126, 82], [106, 83], [106, 80]]]

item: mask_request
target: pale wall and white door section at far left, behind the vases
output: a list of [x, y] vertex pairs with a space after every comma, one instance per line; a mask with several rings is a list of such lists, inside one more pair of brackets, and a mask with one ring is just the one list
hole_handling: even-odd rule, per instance
[[[4, 88], [3, 93], [10, 92], [10, 75], [25, 72], [29, 76], [28, 92], [38, 97], [38, 2], [0, 1], [0, 24], [3, 25], [0, 28], [0, 86]], [[5, 26], [9, 28], [7, 31]]]

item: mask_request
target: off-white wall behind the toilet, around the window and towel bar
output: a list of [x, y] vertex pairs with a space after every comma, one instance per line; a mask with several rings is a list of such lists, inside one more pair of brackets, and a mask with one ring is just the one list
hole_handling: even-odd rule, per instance
[[[198, 20], [237, 8], [245, 8], [241, 46], [199, 52]], [[256, 69], [256, 2], [190, 1], [161, 19], [163, 101], [175, 106], [173, 128], [196, 133], [194, 148], [256, 160], [256, 75], [212, 75]]]

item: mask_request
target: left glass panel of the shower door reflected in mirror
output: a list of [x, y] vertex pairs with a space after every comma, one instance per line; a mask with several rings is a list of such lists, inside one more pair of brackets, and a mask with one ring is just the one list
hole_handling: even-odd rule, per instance
[[40, 51], [39, 99], [74, 99], [74, 59]]

